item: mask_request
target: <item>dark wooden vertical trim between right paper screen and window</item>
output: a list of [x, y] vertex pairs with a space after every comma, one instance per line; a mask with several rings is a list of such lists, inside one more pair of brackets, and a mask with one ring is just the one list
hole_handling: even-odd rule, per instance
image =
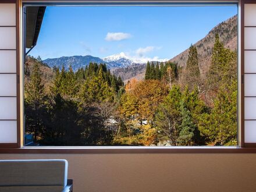
[[240, 127], [240, 146], [244, 147], [244, 0], [241, 0], [241, 23], [240, 23], [240, 37], [241, 37], [241, 48], [240, 48], [240, 54], [241, 54], [241, 127]]

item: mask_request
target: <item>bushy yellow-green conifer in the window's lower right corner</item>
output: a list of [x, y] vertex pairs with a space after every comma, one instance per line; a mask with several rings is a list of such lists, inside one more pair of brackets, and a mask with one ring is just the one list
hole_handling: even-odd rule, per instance
[[199, 129], [208, 143], [237, 144], [237, 81], [220, 88], [211, 113], [202, 113]]

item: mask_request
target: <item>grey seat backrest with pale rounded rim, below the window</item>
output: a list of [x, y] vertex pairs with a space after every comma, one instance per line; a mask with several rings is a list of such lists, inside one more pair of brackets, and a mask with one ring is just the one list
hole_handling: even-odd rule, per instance
[[67, 161], [64, 159], [0, 160], [0, 188], [49, 186], [63, 189], [66, 182]]

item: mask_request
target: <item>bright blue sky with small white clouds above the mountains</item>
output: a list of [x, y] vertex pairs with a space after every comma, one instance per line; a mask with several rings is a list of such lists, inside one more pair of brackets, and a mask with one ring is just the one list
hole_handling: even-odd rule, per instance
[[170, 59], [236, 14], [237, 6], [48, 6], [30, 55]]

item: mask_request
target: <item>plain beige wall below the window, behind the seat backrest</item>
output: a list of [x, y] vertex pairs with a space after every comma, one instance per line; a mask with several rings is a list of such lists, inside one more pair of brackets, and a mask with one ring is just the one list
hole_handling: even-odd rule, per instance
[[74, 192], [256, 191], [256, 154], [0, 154], [0, 159], [67, 159]]

